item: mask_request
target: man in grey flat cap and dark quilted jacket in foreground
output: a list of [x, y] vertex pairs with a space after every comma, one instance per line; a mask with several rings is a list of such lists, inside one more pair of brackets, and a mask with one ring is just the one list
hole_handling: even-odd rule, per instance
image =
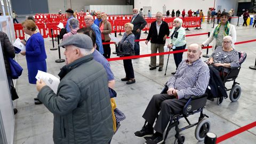
[[108, 77], [93, 60], [93, 44], [87, 35], [73, 35], [65, 47], [66, 66], [59, 73], [57, 94], [37, 81], [38, 99], [54, 115], [54, 143], [109, 143], [113, 134]]

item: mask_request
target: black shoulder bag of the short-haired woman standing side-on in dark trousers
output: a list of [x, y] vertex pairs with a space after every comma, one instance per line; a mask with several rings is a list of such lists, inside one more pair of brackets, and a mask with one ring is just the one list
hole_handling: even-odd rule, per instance
[[[131, 34], [129, 34], [131, 35]], [[129, 36], [128, 35], [128, 36]], [[116, 48], [116, 53], [118, 57], [125, 57], [135, 55], [133, 45], [129, 42], [124, 42], [125, 39], [128, 37], [126, 36], [123, 41], [120, 41]]]

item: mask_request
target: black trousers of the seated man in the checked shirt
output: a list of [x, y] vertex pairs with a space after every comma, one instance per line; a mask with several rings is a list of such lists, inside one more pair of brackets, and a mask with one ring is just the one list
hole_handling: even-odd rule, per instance
[[178, 100], [168, 94], [155, 94], [148, 103], [148, 107], [142, 117], [145, 118], [150, 125], [154, 125], [155, 119], [157, 118], [154, 130], [159, 133], [164, 133], [171, 119], [171, 115], [179, 114], [187, 101], [186, 99]]

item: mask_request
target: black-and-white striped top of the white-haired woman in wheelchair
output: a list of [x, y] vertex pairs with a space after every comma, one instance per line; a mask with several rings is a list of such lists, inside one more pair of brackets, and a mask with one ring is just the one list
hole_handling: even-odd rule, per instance
[[[214, 63], [229, 63], [231, 68], [240, 66], [238, 52], [234, 49], [230, 52], [223, 51], [223, 46], [217, 47], [210, 58], [213, 58]], [[229, 71], [229, 68], [224, 68], [225, 73]]]

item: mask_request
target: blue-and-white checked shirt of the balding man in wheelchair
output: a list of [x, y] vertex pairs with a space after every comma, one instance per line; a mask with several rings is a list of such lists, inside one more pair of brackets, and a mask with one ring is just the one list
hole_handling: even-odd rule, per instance
[[167, 86], [178, 90], [178, 99], [189, 99], [191, 95], [202, 95], [209, 84], [209, 67], [201, 59], [191, 65], [182, 60], [176, 74], [169, 79]]

